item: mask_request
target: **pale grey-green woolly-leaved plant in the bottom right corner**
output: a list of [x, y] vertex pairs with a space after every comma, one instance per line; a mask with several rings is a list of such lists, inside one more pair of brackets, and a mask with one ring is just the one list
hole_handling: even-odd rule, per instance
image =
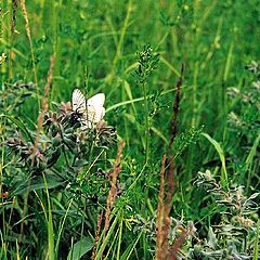
[[260, 193], [247, 197], [243, 186], [226, 190], [209, 170], [198, 172], [195, 183], [214, 202], [220, 222], [209, 226], [207, 239], [197, 239], [186, 259], [257, 259]]

